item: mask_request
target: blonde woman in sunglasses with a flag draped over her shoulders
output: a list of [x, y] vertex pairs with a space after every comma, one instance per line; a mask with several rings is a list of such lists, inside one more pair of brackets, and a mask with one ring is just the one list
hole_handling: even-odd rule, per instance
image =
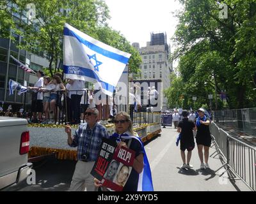
[[[118, 147], [126, 147], [135, 152], [131, 173], [125, 182], [123, 191], [154, 191], [148, 159], [143, 143], [132, 129], [132, 120], [126, 112], [120, 112], [115, 117], [115, 129], [110, 139], [118, 143]], [[124, 168], [122, 169], [124, 170]], [[122, 171], [121, 170], [121, 171]], [[121, 180], [116, 178], [116, 180]], [[101, 187], [99, 180], [94, 179], [95, 186]]]

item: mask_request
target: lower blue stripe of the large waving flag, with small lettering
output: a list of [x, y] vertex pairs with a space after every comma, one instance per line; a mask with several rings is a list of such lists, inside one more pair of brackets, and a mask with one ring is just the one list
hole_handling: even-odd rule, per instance
[[[73, 68], [76, 68], [76, 73], [72, 71]], [[100, 80], [100, 78], [97, 75], [95, 75], [95, 72], [92, 71], [92, 69], [81, 68], [79, 66], [66, 66], [66, 65], [63, 65], [63, 69], [64, 69], [64, 73], [68, 75], [73, 74], [73, 75], [81, 75], [84, 77], [93, 78], [98, 82], [100, 82], [100, 84], [102, 85], [102, 89], [105, 89], [109, 92], [114, 92], [115, 90], [115, 87], [113, 85], [108, 84], [106, 82], [102, 82], [102, 80]]]

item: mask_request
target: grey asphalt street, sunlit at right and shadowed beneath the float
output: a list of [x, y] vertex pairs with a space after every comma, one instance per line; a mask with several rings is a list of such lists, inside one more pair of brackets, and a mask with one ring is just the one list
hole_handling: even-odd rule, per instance
[[[182, 170], [179, 147], [176, 146], [177, 129], [167, 127], [161, 135], [145, 145], [152, 170], [155, 191], [250, 191], [241, 180], [234, 177], [228, 179], [228, 173], [222, 168], [219, 157], [210, 158], [210, 170], [200, 170], [197, 149], [193, 150], [191, 170]], [[210, 153], [214, 148], [210, 149]], [[76, 162], [58, 161], [54, 158], [45, 159], [34, 164], [36, 184], [28, 185], [26, 180], [13, 185], [4, 191], [68, 191]]]

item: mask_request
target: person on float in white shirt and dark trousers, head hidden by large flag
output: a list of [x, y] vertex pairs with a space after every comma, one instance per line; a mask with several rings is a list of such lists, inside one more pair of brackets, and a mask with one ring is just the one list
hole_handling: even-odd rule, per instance
[[79, 124], [80, 113], [81, 113], [81, 98], [83, 95], [84, 81], [83, 80], [68, 80], [70, 84], [70, 95], [71, 95], [71, 110], [73, 116], [73, 122], [71, 124]]

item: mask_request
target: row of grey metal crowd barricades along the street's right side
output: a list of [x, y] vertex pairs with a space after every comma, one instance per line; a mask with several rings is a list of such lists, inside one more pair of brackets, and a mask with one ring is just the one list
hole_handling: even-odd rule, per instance
[[[216, 152], [226, 160], [218, 170], [224, 166], [231, 170], [252, 191], [256, 191], [256, 149], [233, 136], [228, 135], [215, 123], [211, 124], [211, 134], [215, 138]], [[215, 152], [214, 152], [215, 154]], [[223, 172], [225, 173], [225, 171]], [[221, 173], [221, 175], [223, 175]], [[220, 175], [220, 176], [221, 176]]]

